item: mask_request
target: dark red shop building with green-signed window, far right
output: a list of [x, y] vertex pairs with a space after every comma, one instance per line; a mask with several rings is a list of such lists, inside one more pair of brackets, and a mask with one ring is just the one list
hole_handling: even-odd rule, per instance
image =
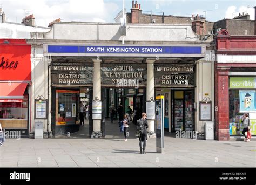
[[[249, 113], [252, 122], [256, 115], [255, 106], [246, 110], [240, 105], [243, 91], [250, 94], [256, 90], [256, 36], [231, 36], [227, 30], [221, 30], [215, 52], [216, 136], [217, 140], [226, 141], [231, 135], [241, 136], [243, 113]], [[254, 125], [252, 129], [255, 134]]]

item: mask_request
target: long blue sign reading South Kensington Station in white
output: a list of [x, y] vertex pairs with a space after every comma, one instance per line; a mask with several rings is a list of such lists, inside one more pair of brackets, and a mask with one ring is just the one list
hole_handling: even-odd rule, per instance
[[202, 46], [68, 46], [48, 45], [48, 53], [204, 54]]

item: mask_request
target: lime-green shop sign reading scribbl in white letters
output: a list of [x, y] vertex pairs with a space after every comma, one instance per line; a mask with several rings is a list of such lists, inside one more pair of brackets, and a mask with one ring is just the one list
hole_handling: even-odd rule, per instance
[[230, 88], [256, 88], [256, 77], [230, 77]]

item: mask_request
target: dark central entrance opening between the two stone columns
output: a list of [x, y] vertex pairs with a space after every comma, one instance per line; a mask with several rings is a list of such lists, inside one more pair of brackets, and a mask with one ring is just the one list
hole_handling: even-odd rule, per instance
[[[120, 132], [119, 120], [123, 120], [125, 113], [129, 114], [129, 138], [136, 135], [136, 122], [146, 106], [146, 90], [144, 88], [106, 88], [105, 97], [105, 138], [124, 138]], [[122, 108], [119, 105], [122, 104]], [[113, 122], [111, 121], [112, 106], [114, 108]]]

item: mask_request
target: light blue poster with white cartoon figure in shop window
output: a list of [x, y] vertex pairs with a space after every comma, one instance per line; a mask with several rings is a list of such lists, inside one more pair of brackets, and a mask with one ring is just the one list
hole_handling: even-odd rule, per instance
[[256, 112], [255, 90], [240, 90], [239, 97], [241, 113]]

